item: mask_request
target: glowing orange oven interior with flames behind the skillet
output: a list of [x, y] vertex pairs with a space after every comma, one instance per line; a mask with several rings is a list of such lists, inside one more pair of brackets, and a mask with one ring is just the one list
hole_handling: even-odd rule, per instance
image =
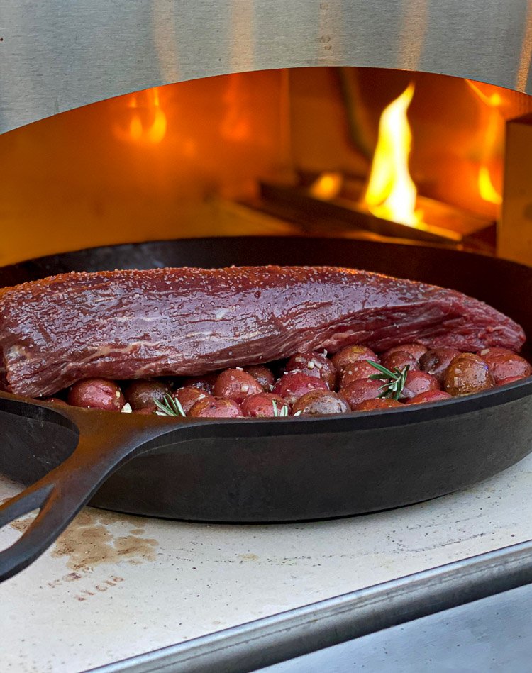
[[0, 137], [0, 263], [259, 234], [419, 240], [530, 263], [529, 113], [530, 96], [491, 84], [355, 67], [101, 101]]

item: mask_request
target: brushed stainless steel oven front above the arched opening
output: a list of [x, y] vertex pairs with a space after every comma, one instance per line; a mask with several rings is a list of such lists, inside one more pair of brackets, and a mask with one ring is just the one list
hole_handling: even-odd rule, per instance
[[439, 72], [532, 94], [531, 0], [3, 0], [0, 132], [147, 87], [281, 67]]

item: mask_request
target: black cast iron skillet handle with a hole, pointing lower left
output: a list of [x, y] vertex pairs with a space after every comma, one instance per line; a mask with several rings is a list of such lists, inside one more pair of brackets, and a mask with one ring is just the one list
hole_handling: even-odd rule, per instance
[[[94, 414], [94, 411], [88, 413]], [[70, 416], [70, 413], [65, 415]], [[179, 421], [161, 423], [159, 417], [150, 419], [109, 412], [98, 416], [94, 419], [77, 414], [79, 443], [72, 455], [38, 482], [0, 505], [0, 528], [40, 509], [21, 538], [0, 552], [0, 582], [20, 572], [45, 552], [101, 483], [120, 465], [153, 448], [154, 443], [150, 440], [175, 432], [180, 426]]]

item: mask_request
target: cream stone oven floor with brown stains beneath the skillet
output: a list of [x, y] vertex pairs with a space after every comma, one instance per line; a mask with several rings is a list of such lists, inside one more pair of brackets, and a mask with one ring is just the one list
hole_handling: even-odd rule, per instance
[[[0, 584], [2, 669], [74, 673], [532, 538], [532, 455], [431, 502], [206, 525], [86, 508]], [[0, 499], [18, 490], [0, 477]], [[0, 530], [9, 545], [29, 518]]]

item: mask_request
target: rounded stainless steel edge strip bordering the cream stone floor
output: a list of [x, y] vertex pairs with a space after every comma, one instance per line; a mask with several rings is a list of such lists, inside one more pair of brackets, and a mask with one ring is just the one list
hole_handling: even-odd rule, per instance
[[[532, 541], [206, 635], [97, 671], [248, 673], [530, 582]], [[297, 670], [330, 668], [304, 665]]]

